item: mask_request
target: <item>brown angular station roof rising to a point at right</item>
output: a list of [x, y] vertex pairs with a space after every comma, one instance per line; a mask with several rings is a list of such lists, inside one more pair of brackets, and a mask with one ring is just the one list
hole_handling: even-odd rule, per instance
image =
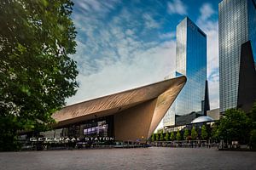
[[186, 77], [177, 77], [68, 105], [53, 115], [57, 122], [55, 127], [114, 115], [115, 139], [134, 140], [140, 137], [148, 139], [185, 82]]

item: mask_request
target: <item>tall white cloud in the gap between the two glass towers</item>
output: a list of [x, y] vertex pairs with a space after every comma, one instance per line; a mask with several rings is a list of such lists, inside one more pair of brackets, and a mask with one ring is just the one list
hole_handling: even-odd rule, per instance
[[210, 3], [200, 8], [201, 15], [196, 24], [207, 33], [207, 74], [211, 109], [219, 107], [218, 82], [218, 20], [211, 20], [217, 14]]

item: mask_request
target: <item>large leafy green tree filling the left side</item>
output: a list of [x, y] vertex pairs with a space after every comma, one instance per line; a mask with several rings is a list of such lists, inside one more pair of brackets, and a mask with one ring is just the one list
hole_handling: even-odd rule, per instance
[[0, 150], [40, 131], [78, 88], [71, 0], [0, 2]]

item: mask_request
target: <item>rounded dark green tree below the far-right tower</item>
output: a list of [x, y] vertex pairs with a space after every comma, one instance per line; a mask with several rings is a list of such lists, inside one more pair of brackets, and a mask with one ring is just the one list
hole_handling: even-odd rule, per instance
[[236, 140], [245, 143], [250, 133], [249, 122], [250, 120], [244, 111], [227, 110], [216, 123], [213, 136], [228, 142]]

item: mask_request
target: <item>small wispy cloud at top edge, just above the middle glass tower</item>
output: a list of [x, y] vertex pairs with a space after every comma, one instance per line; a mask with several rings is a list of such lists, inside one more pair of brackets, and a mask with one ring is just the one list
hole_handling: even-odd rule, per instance
[[169, 14], [188, 14], [187, 6], [181, 0], [173, 0], [167, 3]]

